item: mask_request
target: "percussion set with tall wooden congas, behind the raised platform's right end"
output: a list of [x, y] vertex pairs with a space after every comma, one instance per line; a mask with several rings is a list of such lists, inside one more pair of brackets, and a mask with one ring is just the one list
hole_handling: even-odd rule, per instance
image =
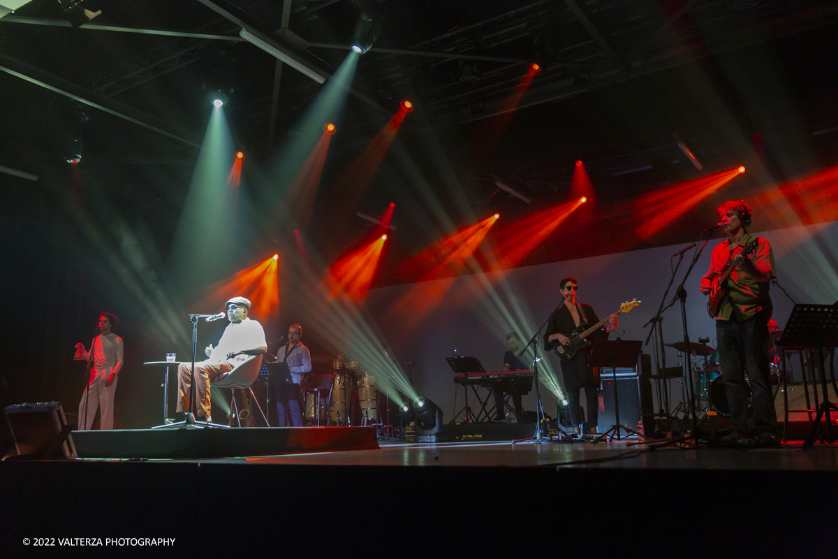
[[309, 425], [347, 427], [378, 422], [375, 374], [359, 372], [358, 360], [333, 360], [331, 375], [320, 375], [300, 391]]

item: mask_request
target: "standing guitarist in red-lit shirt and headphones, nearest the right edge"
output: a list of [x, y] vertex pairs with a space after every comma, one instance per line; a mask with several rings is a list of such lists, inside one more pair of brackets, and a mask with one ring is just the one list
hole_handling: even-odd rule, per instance
[[[732, 424], [731, 434], [718, 443], [727, 447], [779, 447], [768, 360], [768, 319], [772, 311], [768, 285], [776, 277], [773, 250], [765, 239], [748, 235], [753, 210], [747, 202], [730, 200], [717, 211], [727, 240], [713, 248], [710, 269], [701, 278], [701, 292], [709, 294], [714, 278], [722, 275], [729, 264], [735, 264], [722, 285], [727, 287], [727, 295], [716, 314], [719, 363]], [[743, 256], [743, 248], [754, 240], [757, 242], [753, 251]], [[753, 395], [755, 432], [747, 428], [746, 375]]]

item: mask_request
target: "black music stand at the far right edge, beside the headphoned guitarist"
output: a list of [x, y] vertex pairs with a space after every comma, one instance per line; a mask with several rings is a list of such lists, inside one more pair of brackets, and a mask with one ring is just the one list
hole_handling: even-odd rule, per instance
[[[784, 347], [809, 349], [809, 363], [814, 380], [815, 362], [812, 359], [814, 357], [813, 352], [815, 350], [822, 351], [825, 348], [838, 347], [838, 306], [806, 303], [794, 305], [791, 316], [789, 316], [789, 320], [783, 330], [783, 335], [777, 344]], [[838, 411], [838, 406], [830, 402], [829, 392], [826, 391], [826, 369], [823, 360], [821, 360], [820, 365], [820, 387], [823, 391], [824, 401], [818, 406], [818, 415], [815, 417], [815, 422], [812, 423], [812, 430], [809, 436], [806, 437], [803, 448], [810, 448], [815, 444], [815, 438], [820, 429], [820, 422], [824, 416], [826, 416], [826, 437], [825, 439], [821, 437], [821, 441], [826, 443], [835, 442], [835, 437], [832, 434], [832, 417], [830, 412]], [[815, 394], [817, 394], [817, 391], [815, 391]], [[817, 400], [817, 396], [815, 396], [815, 400]], [[786, 403], [786, 408], [788, 409], [788, 403]], [[786, 421], [788, 421], [788, 411]]]

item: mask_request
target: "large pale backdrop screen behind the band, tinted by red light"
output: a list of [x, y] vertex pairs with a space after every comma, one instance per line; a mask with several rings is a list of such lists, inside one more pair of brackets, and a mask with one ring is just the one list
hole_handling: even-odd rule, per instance
[[[800, 226], [783, 230], [753, 232], [771, 242], [777, 263], [777, 276], [789, 295], [798, 303], [835, 303], [838, 300], [838, 222], [820, 225]], [[706, 298], [698, 291], [701, 276], [710, 262], [710, 253], [720, 239], [713, 239], [691, 276], [685, 284], [687, 328], [691, 341], [699, 337], [710, 337], [710, 344], [716, 346], [713, 320], [706, 313]], [[660, 305], [666, 285], [670, 280], [670, 260], [674, 266], [677, 259], [670, 259], [682, 246], [664, 246], [643, 251], [623, 252], [573, 261], [561, 261], [540, 266], [522, 267], [507, 272], [474, 274], [453, 280], [438, 280], [446, 287], [451, 283], [445, 298], [436, 308], [424, 316], [418, 328], [407, 329], [406, 314], [394, 312], [395, 303], [415, 284], [395, 287], [380, 287], [371, 290], [367, 306], [375, 322], [384, 333], [384, 341], [390, 345], [391, 355], [400, 363], [412, 361], [410, 365], [413, 386], [423, 396], [435, 401], [445, 413], [444, 422], [451, 420], [454, 406], [453, 372], [445, 358], [454, 355], [477, 357], [486, 370], [502, 370], [506, 350], [504, 334], [513, 329], [525, 329], [521, 323], [504, 322], [503, 315], [491, 309], [515, 308], [523, 315], [530, 315], [530, 327], [537, 328], [559, 303], [558, 282], [562, 277], [576, 277], [579, 282], [577, 301], [592, 304], [600, 318], [619, 308], [620, 303], [638, 298], [643, 303], [631, 313], [621, 314], [619, 334], [623, 339], [645, 340], [649, 329], [643, 328]], [[673, 297], [675, 287], [681, 281], [689, 265], [693, 251], [688, 251], [681, 264], [675, 284], [667, 297]], [[486, 305], [491, 298], [481, 295], [488, 283], [494, 285], [494, 293], [500, 302]], [[793, 303], [779, 288], [772, 286], [771, 297], [774, 315], [784, 327], [791, 313]], [[487, 311], [489, 308], [489, 311]], [[515, 316], [512, 312], [511, 316]], [[664, 314], [664, 340], [669, 344], [683, 339], [680, 305], [675, 304]], [[625, 330], [623, 334], [622, 330]], [[521, 331], [528, 339], [531, 333]], [[612, 334], [612, 339], [614, 334]], [[654, 353], [652, 343], [644, 346], [644, 353]], [[558, 358], [550, 354], [553, 369], [561, 380]], [[653, 356], [654, 364], [654, 356]], [[677, 365], [677, 352], [667, 349], [666, 365]], [[407, 365], [402, 365], [407, 371]], [[680, 401], [680, 385], [674, 383], [674, 403]], [[535, 391], [525, 396], [525, 409], [535, 409]], [[542, 389], [542, 401], [546, 413], [556, 417], [556, 400], [550, 391]], [[458, 409], [462, 400], [458, 399]], [[602, 426], [601, 426], [602, 427]]]

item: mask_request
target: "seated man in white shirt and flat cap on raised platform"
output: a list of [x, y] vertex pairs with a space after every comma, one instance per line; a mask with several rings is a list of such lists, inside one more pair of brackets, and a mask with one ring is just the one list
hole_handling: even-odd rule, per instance
[[[221, 339], [215, 348], [209, 344], [204, 353], [208, 360], [195, 363], [195, 378], [198, 380], [198, 406], [195, 415], [211, 422], [209, 417], [209, 381], [229, 373], [241, 365], [251, 355], [261, 355], [267, 351], [265, 330], [256, 320], [247, 318], [251, 302], [243, 297], [234, 297], [225, 303], [227, 319], [230, 323], [221, 334]], [[176, 411], [189, 411], [189, 401], [192, 397], [191, 380], [192, 363], [178, 365], [178, 406]]]

